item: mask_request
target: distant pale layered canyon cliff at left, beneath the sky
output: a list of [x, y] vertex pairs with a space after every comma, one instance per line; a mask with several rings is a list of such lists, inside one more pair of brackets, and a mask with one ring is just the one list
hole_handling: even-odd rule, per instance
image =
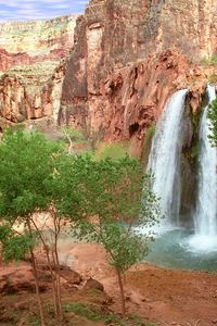
[[56, 118], [76, 15], [0, 24], [0, 116]]

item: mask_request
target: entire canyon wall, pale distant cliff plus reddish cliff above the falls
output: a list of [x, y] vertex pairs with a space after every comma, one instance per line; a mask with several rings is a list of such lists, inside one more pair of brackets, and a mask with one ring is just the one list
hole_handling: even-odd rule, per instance
[[176, 89], [195, 112], [217, 80], [202, 64], [217, 53], [216, 0], [91, 0], [76, 18], [0, 24], [0, 123], [52, 116], [141, 145]]

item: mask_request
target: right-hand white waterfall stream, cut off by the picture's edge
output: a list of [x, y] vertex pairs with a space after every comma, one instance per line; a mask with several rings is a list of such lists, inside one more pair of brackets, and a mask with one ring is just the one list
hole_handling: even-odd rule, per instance
[[[208, 85], [208, 102], [216, 98], [215, 87]], [[200, 127], [199, 190], [194, 214], [195, 236], [191, 246], [196, 250], [217, 250], [217, 150], [208, 139], [208, 105]]]

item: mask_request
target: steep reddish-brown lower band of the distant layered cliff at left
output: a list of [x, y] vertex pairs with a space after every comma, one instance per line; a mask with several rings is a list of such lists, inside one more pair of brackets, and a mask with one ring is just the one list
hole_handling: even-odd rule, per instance
[[[5, 74], [0, 79], [0, 114], [11, 122], [28, 118], [56, 116], [60, 106], [65, 64], [42, 71], [43, 63], [14, 68], [14, 74]], [[48, 63], [49, 65], [49, 63]], [[40, 76], [39, 71], [40, 70]], [[38, 74], [37, 74], [38, 73]]]

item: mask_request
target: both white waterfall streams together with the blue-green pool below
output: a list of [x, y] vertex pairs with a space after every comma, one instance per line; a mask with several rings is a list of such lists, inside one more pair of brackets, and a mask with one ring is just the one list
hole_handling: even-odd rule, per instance
[[[208, 105], [200, 126], [197, 198], [192, 212], [194, 227], [180, 227], [180, 155], [181, 127], [187, 90], [177, 91], [166, 104], [152, 141], [148, 171], [154, 172], [153, 191], [161, 198], [165, 218], [155, 227], [155, 241], [145, 261], [163, 267], [217, 271], [217, 151], [208, 134]], [[207, 88], [208, 102], [215, 87]], [[146, 229], [140, 229], [146, 234]]]

